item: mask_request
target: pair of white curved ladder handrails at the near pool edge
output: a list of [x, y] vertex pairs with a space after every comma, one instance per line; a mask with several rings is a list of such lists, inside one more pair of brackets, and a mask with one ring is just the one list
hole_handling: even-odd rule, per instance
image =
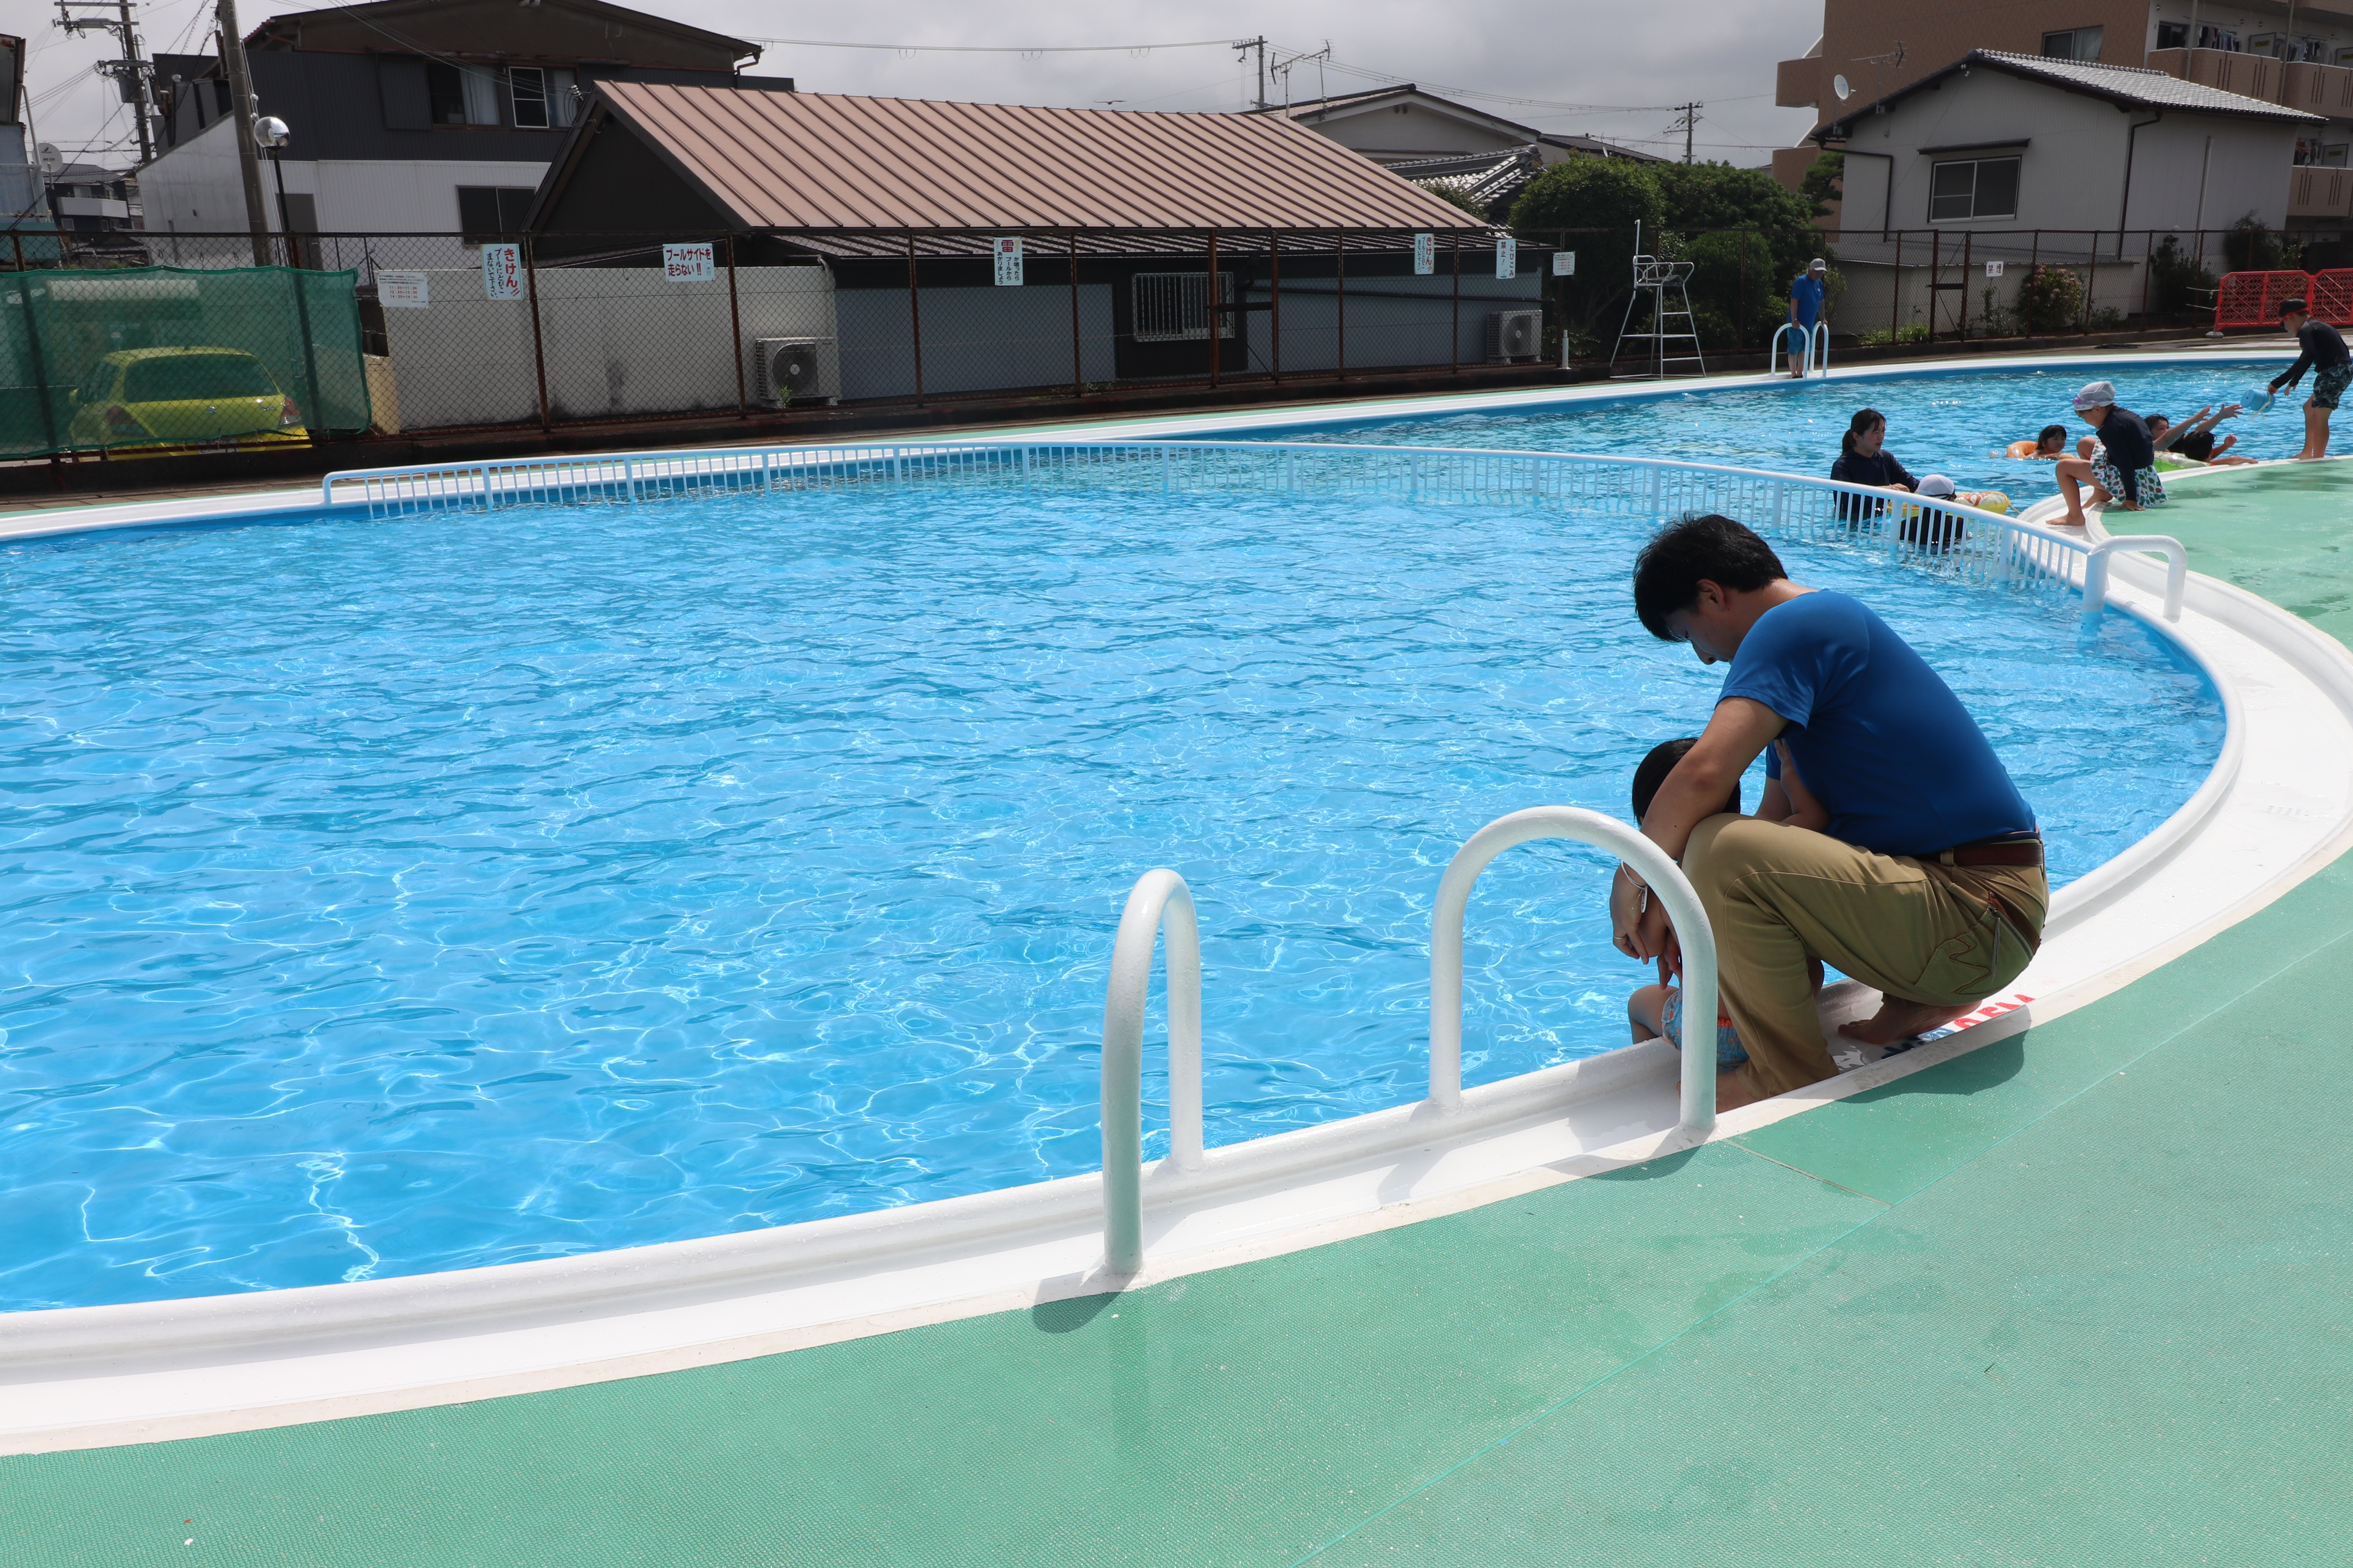
[[[1480, 827], [1454, 851], [1431, 910], [1431, 1091], [1421, 1110], [1445, 1119], [1464, 1105], [1464, 912], [1487, 863], [1515, 844], [1569, 839], [1633, 865], [1682, 943], [1685, 1018], [1715, 1018], [1715, 933], [1699, 893], [1664, 849], [1626, 823], [1584, 806], [1529, 806]], [[1167, 933], [1169, 1154], [1165, 1166], [1200, 1171], [1200, 924], [1193, 889], [1167, 867], [1144, 872], [1120, 914], [1104, 994], [1104, 1267], [1144, 1269], [1144, 1004], [1153, 983], [1153, 938]], [[1715, 1053], [1685, 1051], [1680, 1128], [1692, 1140], [1715, 1131]]]

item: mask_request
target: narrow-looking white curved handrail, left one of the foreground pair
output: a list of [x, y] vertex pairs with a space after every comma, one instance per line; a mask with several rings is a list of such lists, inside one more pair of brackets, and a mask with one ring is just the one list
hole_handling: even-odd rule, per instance
[[1169, 1164], [1200, 1171], [1200, 924], [1193, 889], [1160, 867], [1136, 877], [1104, 992], [1104, 1267], [1144, 1267], [1144, 1001], [1153, 938], [1167, 926]]

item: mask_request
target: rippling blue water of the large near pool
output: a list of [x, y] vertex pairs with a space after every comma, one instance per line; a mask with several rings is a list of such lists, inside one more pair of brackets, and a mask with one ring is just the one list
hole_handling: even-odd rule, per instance
[[[5, 550], [0, 1305], [1094, 1168], [1153, 865], [1200, 900], [1212, 1143], [1414, 1100], [1454, 846], [1624, 813], [1711, 708], [1628, 614], [1635, 545], [944, 487]], [[1791, 567], [1951, 675], [2061, 879], [2212, 764], [2212, 693], [2132, 621]], [[1624, 1041], [1605, 877], [1529, 846], [1480, 884], [1471, 1081]]]

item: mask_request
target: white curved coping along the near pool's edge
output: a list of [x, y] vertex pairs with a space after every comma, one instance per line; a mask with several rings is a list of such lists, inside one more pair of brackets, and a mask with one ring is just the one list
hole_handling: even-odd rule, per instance
[[[209, 505], [231, 510], [226, 501]], [[304, 510], [315, 505], [308, 491]], [[2252, 595], [2217, 595], [2221, 588], [2193, 581], [2184, 644], [2207, 665], [2226, 705], [2238, 698], [2245, 708], [2226, 745], [2226, 757], [2240, 752], [2242, 762], [2228, 769], [2195, 830], [2137, 867], [2134, 882], [2113, 886], [2104, 907], [2054, 917], [2042, 959], [2019, 983], [2031, 1001], [1904, 1058], [1734, 1112], [1715, 1138], [1878, 1088], [2057, 1018], [2254, 912], [2334, 858], [2348, 827], [2344, 795], [2287, 799], [2264, 780], [2289, 776], [2280, 757], [2294, 757], [2306, 776], [2353, 773], [2353, 658], [2332, 639], [2322, 639], [2334, 649], [2327, 656], [2292, 637], [2292, 628], [2308, 628]], [[2146, 590], [2134, 583], [2118, 599], [2148, 611]], [[1094, 1272], [1099, 1178], [1087, 1175], [574, 1260], [16, 1314], [0, 1319], [14, 1382], [0, 1448], [231, 1432], [760, 1356], [1111, 1284], [1146, 1286], [1685, 1147], [1661, 1131], [1673, 1126], [1673, 1088], [1671, 1056], [1659, 1048], [1473, 1091], [1471, 1117], [1419, 1126], [1414, 1117], [1414, 1110], [1384, 1112], [1233, 1145], [1214, 1152], [1200, 1180], [1155, 1180], [1151, 1225], [1162, 1251], [1144, 1276], [1125, 1281]], [[1315, 1171], [1318, 1180], [1299, 1185], [1301, 1171]], [[885, 1258], [896, 1267], [875, 1267]], [[624, 1302], [638, 1309], [612, 1312]]]

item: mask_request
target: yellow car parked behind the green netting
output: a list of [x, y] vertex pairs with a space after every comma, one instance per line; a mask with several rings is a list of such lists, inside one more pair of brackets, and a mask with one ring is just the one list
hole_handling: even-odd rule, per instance
[[75, 447], [231, 451], [311, 440], [301, 409], [242, 348], [122, 348], [66, 397]]

